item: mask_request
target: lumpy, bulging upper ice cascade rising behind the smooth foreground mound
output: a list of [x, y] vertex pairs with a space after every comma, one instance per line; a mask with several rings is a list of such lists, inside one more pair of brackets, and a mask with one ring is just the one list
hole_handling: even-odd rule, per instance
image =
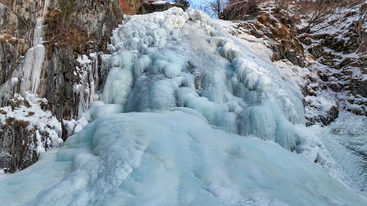
[[193, 108], [211, 125], [294, 150], [304, 124], [299, 95], [269, 62], [203, 12], [179, 8], [128, 17], [113, 32], [102, 100], [126, 112]]

